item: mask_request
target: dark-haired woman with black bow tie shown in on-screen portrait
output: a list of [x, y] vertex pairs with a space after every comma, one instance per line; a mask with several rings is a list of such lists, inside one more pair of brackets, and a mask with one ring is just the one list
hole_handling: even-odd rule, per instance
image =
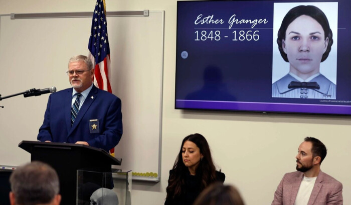
[[272, 97], [335, 99], [336, 85], [319, 72], [329, 55], [332, 31], [322, 10], [313, 5], [290, 9], [278, 31], [281, 56], [289, 73], [272, 84]]

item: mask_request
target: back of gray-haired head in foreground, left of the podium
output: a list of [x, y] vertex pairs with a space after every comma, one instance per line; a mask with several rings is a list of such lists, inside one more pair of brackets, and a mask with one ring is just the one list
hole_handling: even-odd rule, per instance
[[20, 205], [49, 203], [60, 191], [55, 169], [40, 161], [16, 168], [10, 176], [10, 183], [16, 202]]

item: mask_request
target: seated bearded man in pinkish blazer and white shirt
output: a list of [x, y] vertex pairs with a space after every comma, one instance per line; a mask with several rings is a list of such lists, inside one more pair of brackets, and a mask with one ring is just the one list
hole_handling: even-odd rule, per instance
[[306, 137], [295, 157], [297, 171], [283, 176], [272, 205], [342, 205], [342, 184], [320, 170], [325, 156], [325, 145], [314, 137]]

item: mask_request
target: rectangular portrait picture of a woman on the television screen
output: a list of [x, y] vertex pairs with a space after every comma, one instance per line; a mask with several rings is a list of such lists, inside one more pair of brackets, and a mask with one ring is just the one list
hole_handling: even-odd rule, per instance
[[272, 97], [336, 99], [335, 13], [337, 2], [274, 3]]

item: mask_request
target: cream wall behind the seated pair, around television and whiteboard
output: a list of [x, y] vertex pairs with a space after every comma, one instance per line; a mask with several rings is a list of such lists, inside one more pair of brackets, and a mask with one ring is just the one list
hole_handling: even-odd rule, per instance
[[[95, 0], [0, 0], [0, 14], [91, 11], [94, 2]], [[295, 170], [294, 156], [298, 145], [305, 136], [317, 137], [328, 148], [322, 170], [343, 183], [344, 204], [351, 204], [351, 197], [346, 194], [351, 192], [351, 179], [348, 177], [351, 169], [348, 156], [351, 151], [347, 149], [351, 146], [348, 134], [351, 128], [350, 117], [175, 110], [177, 1], [106, 0], [106, 4], [107, 10], [111, 11], [165, 10], [162, 177], [159, 183], [133, 181], [133, 204], [163, 204], [168, 170], [172, 167], [182, 139], [195, 132], [205, 135], [218, 168], [226, 173], [226, 183], [235, 184], [250, 205], [270, 204], [283, 174]], [[40, 69], [42, 68], [38, 67], [38, 72]], [[5, 70], [4, 67], [0, 67], [0, 73], [8, 74], [14, 79], [16, 77], [13, 71]], [[21, 83], [16, 83], [15, 86], [16, 90], [22, 89]], [[0, 93], [5, 94], [3, 90], [5, 88], [1, 87]], [[38, 111], [44, 113], [44, 110]], [[22, 117], [30, 120], [29, 116]]]

